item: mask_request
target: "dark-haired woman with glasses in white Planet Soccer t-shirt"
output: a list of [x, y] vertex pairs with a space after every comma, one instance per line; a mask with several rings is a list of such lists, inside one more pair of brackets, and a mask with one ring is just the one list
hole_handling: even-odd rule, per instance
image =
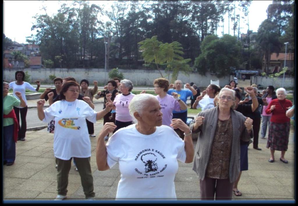
[[54, 155], [58, 171], [56, 200], [66, 198], [72, 157], [75, 159], [86, 199], [95, 196], [90, 166], [91, 142], [86, 119], [96, 123], [112, 109], [113, 105], [107, 103], [104, 110], [96, 112], [85, 101], [77, 100], [79, 92], [78, 83], [67, 81], [63, 83], [60, 101], [56, 101], [45, 110], [43, 109], [45, 101], [37, 102], [38, 118], [43, 122], [55, 120]]

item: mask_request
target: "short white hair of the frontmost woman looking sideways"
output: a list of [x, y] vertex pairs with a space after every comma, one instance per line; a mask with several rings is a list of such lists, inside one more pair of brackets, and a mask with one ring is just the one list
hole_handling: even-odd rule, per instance
[[137, 120], [134, 117], [134, 113], [138, 112], [139, 114], [142, 114], [142, 111], [147, 106], [146, 102], [150, 99], [154, 99], [158, 101], [156, 97], [151, 94], [139, 94], [132, 98], [131, 102], [128, 105], [128, 109], [129, 109], [129, 114], [131, 115], [132, 118], [134, 118], [136, 122]]

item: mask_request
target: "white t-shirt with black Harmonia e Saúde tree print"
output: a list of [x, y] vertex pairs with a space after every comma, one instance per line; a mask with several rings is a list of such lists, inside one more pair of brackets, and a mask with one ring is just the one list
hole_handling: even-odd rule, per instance
[[119, 129], [106, 144], [107, 162], [121, 172], [116, 199], [176, 199], [178, 161], [185, 162], [184, 141], [168, 126], [153, 134], [139, 133], [136, 124]]

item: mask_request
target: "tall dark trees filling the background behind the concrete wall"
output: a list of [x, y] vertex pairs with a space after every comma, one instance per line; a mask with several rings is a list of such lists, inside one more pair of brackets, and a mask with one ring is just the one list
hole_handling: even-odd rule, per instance
[[[273, 1], [268, 19], [260, 25], [257, 45], [250, 48], [248, 30], [248, 50], [242, 51], [240, 28], [249, 27], [249, 0], [113, 1], [107, 8], [89, 1], [69, 2], [60, 3], [52, 16], [43, 7], [34, 17], [32, 30], [37, 34], [27, 38], [40, 46], [42, 60], [53, 67], [103, 68], [106, 62], [108, 69], [166, 69], [173, 78], [195, 65], [201, 74], [221, 76], [239, 65], [259, 69], [263, 56], [268, 62], [268, 54], [283, 51], [284, 42], [290, 42], [288, 51], [295, 49], [293, 1]], [[221, 32], [226, 14], [235, 38]], [[217, 37], [219, 32], [222, 38]], [[4, 44], [9, 42], [3, 39]]]

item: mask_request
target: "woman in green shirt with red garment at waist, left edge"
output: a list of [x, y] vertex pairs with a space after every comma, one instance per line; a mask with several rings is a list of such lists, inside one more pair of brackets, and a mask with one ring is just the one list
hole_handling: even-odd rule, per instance
[[18, 138], [18, 120], [13, 106], [26, 107], [21, 92], [8, 95], [9, 83], [3, 82], [3, 164], [10, 166], [15, 161], [15, 143]]

